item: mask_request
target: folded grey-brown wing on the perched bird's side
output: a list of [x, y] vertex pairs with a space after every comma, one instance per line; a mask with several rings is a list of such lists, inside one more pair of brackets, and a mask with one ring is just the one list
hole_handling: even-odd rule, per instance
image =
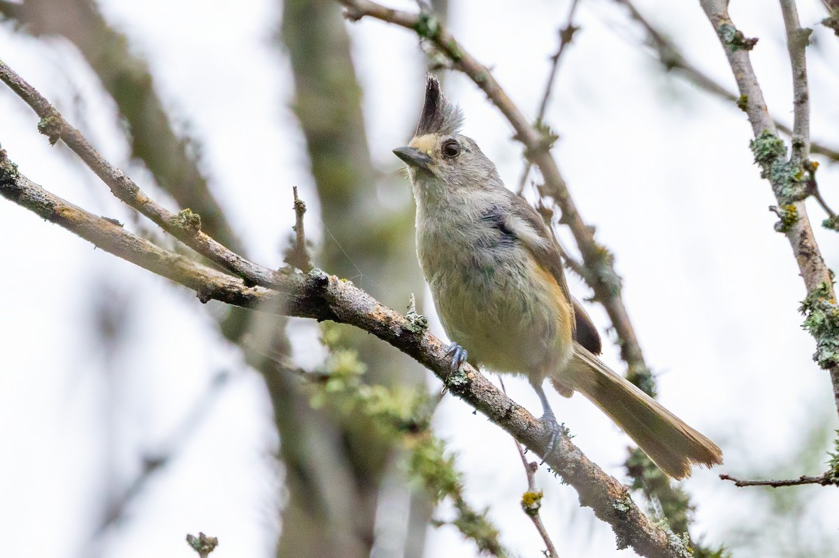
[[520, 220], [526, 227], [517, 227], [516, 223], [510, 226], [516, 236], [528, 248], [531, 254], [554, 276], [556, 283], [560, 286], [565, 299], [574, 309], [574, 338], [576, 342], [591, 351], [592, 354], [600, 354], [602, 343], [600, 333], [591, 322], [591, 318], [576, 298], [571, 297], [568, 291], [568, 282], [565, 281], [565, 270], [560, 258], [560, 246], [556, 242], [553, 232], [545, 225], [545, 220], [533, 209], [527, 201], [517, 194], [510, 192], [510, 202], [513, 208], [513, 217]]

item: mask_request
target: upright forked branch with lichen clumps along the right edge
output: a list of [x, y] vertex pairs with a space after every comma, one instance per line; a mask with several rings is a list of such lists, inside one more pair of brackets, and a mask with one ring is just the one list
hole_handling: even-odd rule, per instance
[[[798, 262], [801, 278], [807, 289], [808, 307], [819, 310], [818, 320], [808, 315], [810, 333], [816, 338], [816, 360], [822, 368], [828, 370], [833, 385], [833, 397], [836, 411], [839, 411], [839, 307], [836, 306], [836, 294], [833, 290], [833, 277], [821, 256], [816, 238], [807, 218], [804, 198], [806, 195], [805, 178], [808, 168], [806, 147], [809, 143], [806, 110], [806, 72], [803, 70], [803, 50], [807, 32], [798, 29], [795, 21], [785, 17], [788, 36], [793, 44], [789, 45], [793, 59], [793, 88], [795, 90], [795, 124], [793, 130], [793, 154], [786, 157], [787, 148], [778, 137], [774, 121], [769, 116], [763, 90], [754, 74], [749, 51], [757, 39], [748, 39], [728, 15], [726, 0], [701, 0], [711, 26], [717, 32], [722, 48], [725, 50], [728, 64], [732, 68], [740, 96], [745, 99], [744, 108], [752, 125], [754, 140], [751, 142], [755, 162], [762, 169], [763, 178], [772, 185], [775, 199], [783, 216], [781, 226], [776, 229], [783, 232], [792, 247], [795, 261]], [[789, 5], [791, 9], [791, 4]], [[786, 8], [784, 8], [786, 9]], [[802, 57], [802, 58], [798, 58]], [[809, 118], [809, 116], [808, 116]], [[824, 318], [824, 319], [821, 319]], [[816, 323], [817, 322], [817, 323]], [[805, 324], [808, 322], [805, 322]]]

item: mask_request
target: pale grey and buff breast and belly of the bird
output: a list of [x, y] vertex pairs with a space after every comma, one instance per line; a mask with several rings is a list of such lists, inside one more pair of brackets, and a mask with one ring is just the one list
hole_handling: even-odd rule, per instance
[[487, 212], [444, 230], [441, 222], [456, 220], [439, 217], [418, 227], [417, 246], [451, 340], [498, 372], [545, 375], [564, 365], [571, 317], [550, 273]]

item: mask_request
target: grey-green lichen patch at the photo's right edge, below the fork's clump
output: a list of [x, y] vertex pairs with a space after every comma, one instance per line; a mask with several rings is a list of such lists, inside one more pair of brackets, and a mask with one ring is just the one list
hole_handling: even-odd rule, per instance
[[816, 353], [813, 360], [821, 368], [829, 369], [839, 365], [839, 305], [833, 299], [828, 282], [813, 289], [801, 302], [802, 327], [816, 338]]

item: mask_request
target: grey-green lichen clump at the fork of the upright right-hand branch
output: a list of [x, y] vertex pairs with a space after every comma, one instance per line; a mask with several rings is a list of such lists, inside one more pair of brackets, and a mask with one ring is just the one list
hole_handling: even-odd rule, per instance
[[798, 163], [786, 160], [784, 142], [772, 132], [764, 131], [748, 143], [754, 162], [761, 168], [760, 178], [768, 178], [778, 201], [786, 206], [807, 197], [807, 173]]

